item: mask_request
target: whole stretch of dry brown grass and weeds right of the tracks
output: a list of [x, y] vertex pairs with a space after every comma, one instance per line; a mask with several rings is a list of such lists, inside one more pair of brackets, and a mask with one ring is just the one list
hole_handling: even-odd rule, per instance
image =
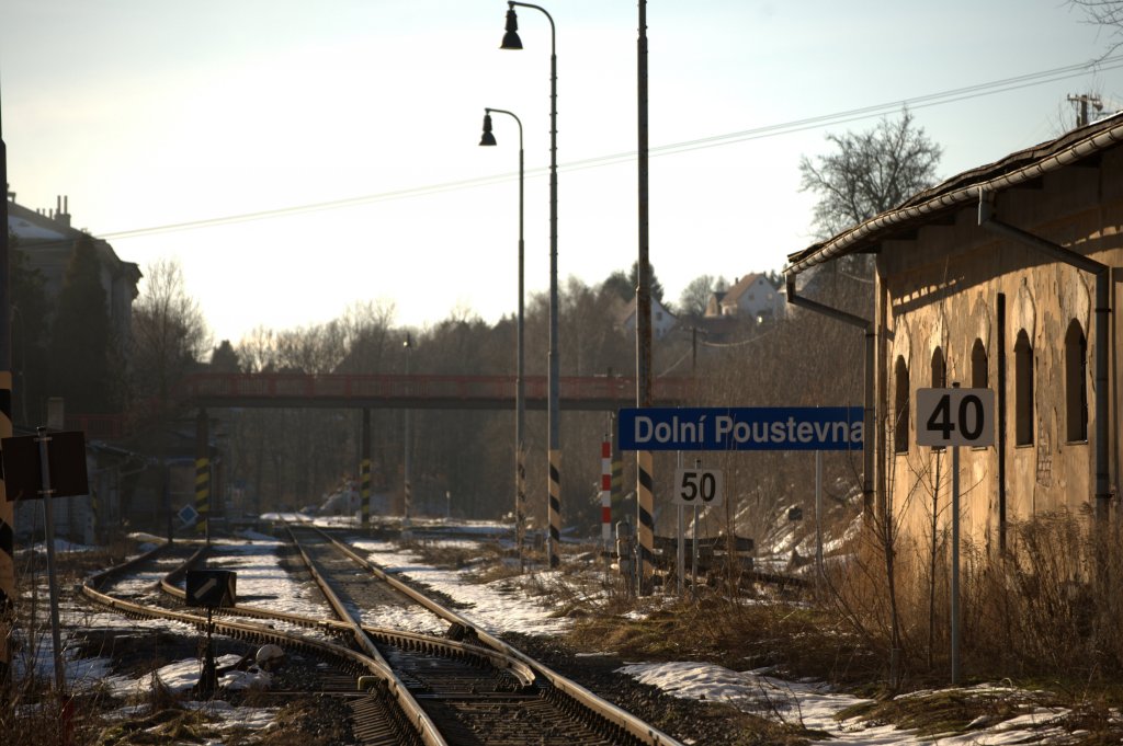
[[[960, 577], [962, 680], [1005, 681], [1005, 689], [947, 689], [950, 581], [942, 536], [934, 565], [924, 553], [931, 543], [897, 542], [895, 597], [882, 545], [866, 534], [818, 592], [767, 601], [759, 588], [736, 596], [702, 589], [696, 600], [669, 601], [605, 593], [587, 604], [591, 614], [575, 623], [568, 642], [631, 660], [814, 676], [875, 698], [841, 717], [922, 735], [969, 731], [1054, 707], [1060, 713], [1051, 727], [1066, 733], [1066, 743], [1120, 743], [1123, 532], [1099, 528], [1088, 516], [1054, 514], [1010, 526], [1007, 538], [1005, 553], [965, 545]], [[556, 589], [544, 592], [551, 602], [567, 600]], [[900, 670], [891, 685], [894, 608]], [[642, 614], [628, 614], [636, 610]]]

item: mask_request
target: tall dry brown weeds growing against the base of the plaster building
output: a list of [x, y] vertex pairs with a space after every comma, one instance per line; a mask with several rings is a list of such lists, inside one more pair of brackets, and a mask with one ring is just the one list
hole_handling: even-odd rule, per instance
[[[946, 542], [931, 572], [928, 547], [895, 549], [895, 609], [902, 681], [947, 681], [950, 671], [950, 579]], [[885, 556], [875, 537], [858, 540], [820, 599], [887, 661], [893, 610]], [[1056, 680], [1106, 684], [1123, 673], [1117, 624], [1123, 597], [1117, 528], [1086, 517], [1043, 515], [1012, 525], [1008, 550], [965, 544], [960, 570], [960, 660], [965, 679]]]

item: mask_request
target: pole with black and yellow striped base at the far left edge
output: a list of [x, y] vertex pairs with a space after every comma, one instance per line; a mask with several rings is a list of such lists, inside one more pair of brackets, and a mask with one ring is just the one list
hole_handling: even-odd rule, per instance
[[[0, 133], [0, 438], [11, 438], [11, 296], [8, 277], [8, 150]], [[0, 685], [11, 676], [11, 618], [16, 604], [16, 510], [0, 473]]]

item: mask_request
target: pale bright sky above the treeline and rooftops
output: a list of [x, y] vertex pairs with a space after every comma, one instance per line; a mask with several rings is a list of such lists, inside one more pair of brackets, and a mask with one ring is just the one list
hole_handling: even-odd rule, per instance
[[[637, 2], [542, 4], [557, 52], [558, 282], [638, 257]], [[214, 342], [377, 304], [489, 323], [549, 287], [550, 21], [502, 0], [6, 0], [0, 126], [19, 204], [144, 271], [183, 269]], [[1123, 108], [1111, 34], [1065, 0], [647, 3], [650, 261], [779, 270], [814, 242], [801, 156], [909, 104], [948, 177]], [[1123, 55], [1120, 50], [1117, 55]], [[144, 287], [141, 284], [141, 292]], [[529, 303], [529, 301], [528, 301]]]

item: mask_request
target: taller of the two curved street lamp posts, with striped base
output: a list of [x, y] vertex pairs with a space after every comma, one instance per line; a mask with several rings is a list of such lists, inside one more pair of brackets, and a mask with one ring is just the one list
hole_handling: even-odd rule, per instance
[[560, 458], [560, 420], [558, 417], [558, 58], [557, 33], [554, 18], [545, 8], [529, 2], [509, 0], [506, 11], [506, 29], [501, 49], [521, 49], [519, 38], [519, 21], [514, 13], [515, 6], [533, 8], [540, 11], [550, 22], [550, 352], [547, 374], [549, 378], [549, 503], [547, 513], [549, 534], [546, 538], [546, 554], [549, 565], [560, 564], [558, 546], [562, 540], [562, 471]]

